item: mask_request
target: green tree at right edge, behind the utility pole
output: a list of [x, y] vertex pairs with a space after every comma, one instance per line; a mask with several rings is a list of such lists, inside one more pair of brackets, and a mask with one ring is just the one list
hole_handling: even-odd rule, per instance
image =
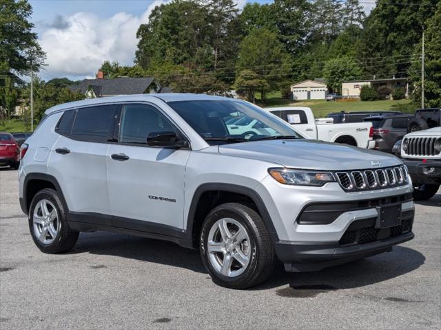
[[[441, 107], [441, 2], [433, 17], [426, 22], [427, 30], [424, 33], [424, 105], [426, 107]], [[421, 52], [421, 43], [417, 52]], [[413, 100], [421, 102], [421, 63], [413, 63], [409, 69], [409, 76], [415, 89]]]

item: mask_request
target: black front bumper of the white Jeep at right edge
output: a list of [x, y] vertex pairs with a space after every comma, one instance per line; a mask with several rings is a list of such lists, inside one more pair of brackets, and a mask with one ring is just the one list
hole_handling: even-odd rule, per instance
[[[441, 184], [441, 159], [402, 159], [409, 170], [413, 184]], [[433, 168], [432, 173], [427, 169]]]

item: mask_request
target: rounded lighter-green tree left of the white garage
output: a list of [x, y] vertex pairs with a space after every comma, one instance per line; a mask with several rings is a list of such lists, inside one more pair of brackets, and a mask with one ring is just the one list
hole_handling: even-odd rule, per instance
[[[253, 30], [239, 46], [236, 70], [241, 72], [244, 69], [251, 69], [259, 79], [266, 80], [268, 90], [274, 91], [280, 89], [290, 75], [291, 58], [274, 32]], [[265, 99], [265, 93], [262, 99]]]

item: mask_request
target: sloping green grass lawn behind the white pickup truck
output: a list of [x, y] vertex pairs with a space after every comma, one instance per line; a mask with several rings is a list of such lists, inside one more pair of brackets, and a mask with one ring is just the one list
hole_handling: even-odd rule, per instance
[[338, 102], [325, 100], [285, 100], [282, 98], [268, 98], [264, 107], [309, 107], [314, 111], [316, 118], [324, 117], [330, 112], [340, 111], [380, 111], [390, 110], [395, 104], [406, 104], [411, 100], [381, 100], [381, 101], [351, 101]]

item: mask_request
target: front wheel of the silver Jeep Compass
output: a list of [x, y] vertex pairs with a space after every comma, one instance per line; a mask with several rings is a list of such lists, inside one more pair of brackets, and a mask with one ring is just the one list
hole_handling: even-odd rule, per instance
[[274, 269], [275, 252], [260, 215], [243, 204], [214, 208], [203, 223], [201, 257], [214, 283], [246, 289], [265, 281]]

